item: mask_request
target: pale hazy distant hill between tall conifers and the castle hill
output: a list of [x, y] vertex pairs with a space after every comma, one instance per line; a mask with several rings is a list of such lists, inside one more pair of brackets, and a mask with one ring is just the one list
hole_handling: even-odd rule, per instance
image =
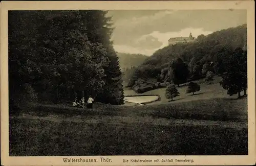
[[117, 53], [119, 57], [119, 65], [123, 71], [126, 68], [138, 67], [144, 62], [148, 56], [142, 54], [127, 54], [127, 53]]

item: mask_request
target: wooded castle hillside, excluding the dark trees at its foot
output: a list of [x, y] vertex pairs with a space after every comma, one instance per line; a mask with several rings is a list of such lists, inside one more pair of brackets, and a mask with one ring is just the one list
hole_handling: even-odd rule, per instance
[[210, 70], [221, 75], [225, 72], [223, 62], [226, 61], [226, 58], [230, 57], [237, 48], [246, 50], [246, 45], [247, 25], [242, 25], [216, 31], [207, 36], [199, 35], [193, 43], [166, 46], [156, 51], [135, 69], [128, 86], [135, 91], [137, 91], [136, 89], [147, 91], [144, 89], [152, 90], [165, 86], [158, 82], [168, 82], [171, 79], [170, 64], [177, 58], [180, 58], [189, 70], [187, 79], [205, 77], [201, 74], [202, 69], [210, 62], [212, 63]]

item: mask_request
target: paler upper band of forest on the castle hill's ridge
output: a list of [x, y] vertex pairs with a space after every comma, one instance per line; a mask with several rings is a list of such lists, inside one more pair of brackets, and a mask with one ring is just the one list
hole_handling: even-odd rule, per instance
[[[185, 62], [189, 63], [192, 57], [186, 57], [187, 51], [198, 50], [202, 48], [205, 53], [212, 50], [216, 45], [228, 45], [232, 49], [247, 45], [247, 25], [238, 26], [236, 28], [228, 28], [216, 31], [207, 36], [199, 35], [193, 43], [180, 43], [176, 45], [168, 45], [163, 49], [156, 51], [152, 56], [146, 59], [142, 65], [154, 65], [155, 67], [164, 68], [166, 63], [173, 61], [177, 57], [181, 57]], [[206, 56], [206, 54], [205, 54]]]

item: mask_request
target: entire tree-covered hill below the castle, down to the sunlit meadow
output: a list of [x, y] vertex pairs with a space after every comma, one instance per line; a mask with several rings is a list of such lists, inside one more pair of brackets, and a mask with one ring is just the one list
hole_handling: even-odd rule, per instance
[[[247, 59], [247, 26], [229, 28], [210, 35], [198, 36], [193, 43], [180, 43], [156, 51], [134, 71], [128, 86], [134, 88], [138, 80], [157, 79], [160, 83], [179, 84], [206, 77], [208, 72], [225, 77], [231, 67], [244, 64]], [[244, 58], [244, 57], [243, 57]], [[235, 66], [230, 66], [230, 65]], [[247, 72], [247, 71], [246, 71]], [[247, 76], [247, 73], [246, 73]], [[154, 84], [154, 83], [150, 83]], [[246, 87], [246, 86], [245, 86]]]

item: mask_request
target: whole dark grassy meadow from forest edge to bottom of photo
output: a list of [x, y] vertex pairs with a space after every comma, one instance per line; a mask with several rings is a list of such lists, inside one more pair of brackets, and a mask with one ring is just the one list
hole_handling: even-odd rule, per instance
[[10, 116], [10, 155], [247, 154], [247, 99], [224, 98], [221, 88], [209, 86], [208, 99], [205, 92], [186, 96], [204, 100], [161, 105], [30, 104]]

